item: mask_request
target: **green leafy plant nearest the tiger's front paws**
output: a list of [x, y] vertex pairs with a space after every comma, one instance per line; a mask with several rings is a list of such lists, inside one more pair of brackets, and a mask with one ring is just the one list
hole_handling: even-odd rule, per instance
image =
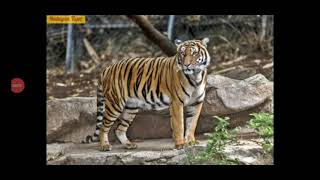
[[237, 165], [239, 164], [238, 160], [228, 159], [223, 154], [225, 145], [236, 140], [236, 131], [229, 132], [227, 130], [230, 118], [220, 118], [218, 116], [215, 116], [215, 118], [217, 119], [217, 125], [214, 131], [208, 135], [209, 140], [206, 149], [200, 151], [197, 155], [189, 155], [189, 162], [194, 164], [201, 161], [212, 161], [219, 165]]

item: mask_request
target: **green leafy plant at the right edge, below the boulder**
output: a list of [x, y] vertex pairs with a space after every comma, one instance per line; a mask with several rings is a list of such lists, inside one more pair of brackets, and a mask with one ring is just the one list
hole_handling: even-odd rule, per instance
[[259, 142], [265, 153], [273, 153], [273, 115], [269, 113], [253, 113], [248, 126], [256, 130], [262, 142]]

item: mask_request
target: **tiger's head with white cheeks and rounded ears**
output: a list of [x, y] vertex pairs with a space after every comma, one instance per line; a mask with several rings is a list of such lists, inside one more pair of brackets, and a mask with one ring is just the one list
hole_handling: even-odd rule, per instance
[[178, 68], [185, 74], [198, 74], [207, 68], [210, 55], [207, 50], [209, 38], [202, 40], [175, 40], [177, 46]]

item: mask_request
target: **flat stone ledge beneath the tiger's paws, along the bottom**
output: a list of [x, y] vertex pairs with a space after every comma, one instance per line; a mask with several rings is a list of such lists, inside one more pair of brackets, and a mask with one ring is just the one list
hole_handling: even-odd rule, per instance
[[[110, 152], [98, 151], [98, 144], [49, 144], [48, 165], [188, 165], [188, 156], [196, 155], [206, 148], [207, 141], [181, 150], [174, 150], [171, 139], [153, 139], [138, 142], [138, 149], [126, 151], [114, 145]], [[58, 151], [57, 151], [58, 149]], [[53, 154], [57, 154], [53, 157]], [[240, 140], [239, 144], [228, 144], [224, 154], [229, 159], [238, 159], [240, 164], [273, 164], [272, 157], [265, 158], [260, 145]], [[202, 162], [200, 164], [211, 164]]]

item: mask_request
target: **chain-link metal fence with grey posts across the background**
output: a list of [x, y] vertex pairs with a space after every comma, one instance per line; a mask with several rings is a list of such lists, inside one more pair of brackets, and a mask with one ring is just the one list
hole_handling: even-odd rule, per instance
[[[151, 24], [172, 41], [209, 37], [209, 52], [222, 43], [250, 42], [248, 34], [273, 43], [272, 15], [147, 15]], [[88, 15], [84, 25], [47, 25], [47, 67], [92, 59], [90, 48], [100, 59], [132, 56], [164, 56], [126, 16]], [[89, 48], [89, 49], [88, 49]], [[68, 49], [68, 50], [67, 50]], [[240, 49], [241, 50], [241, 49]], [[72, 51], [72, 58], [66, 57]], [[70, 54], [70, 53], [69, 53]], [[74, 59], [66, 62], [66, 59]]]

